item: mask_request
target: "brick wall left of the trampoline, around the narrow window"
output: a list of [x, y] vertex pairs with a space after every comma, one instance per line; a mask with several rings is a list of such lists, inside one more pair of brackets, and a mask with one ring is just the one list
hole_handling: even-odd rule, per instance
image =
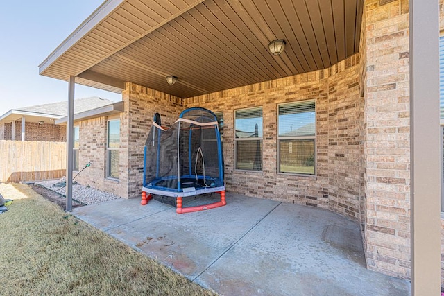
[[[144, 145], [153, 116], [159, 112], [162, 125], [171, 125], [183, 110], [182, 100], [130, 82], [126, 84], [122, 98], [125, 112], [119, 116], [119, 180], [106, 177], [108, 118], [105, 116], [76, 122], [80, 137], [79, 169], [92, 162], [92, 166], [80, 173], [76, 180], [123, 198], [140, 198]], [[65, 131], [66, 128], [62, 134]]]

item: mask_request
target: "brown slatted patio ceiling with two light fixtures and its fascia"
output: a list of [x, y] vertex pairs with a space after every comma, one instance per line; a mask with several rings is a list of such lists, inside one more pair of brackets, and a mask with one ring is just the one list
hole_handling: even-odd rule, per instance
[[[357, 53], [362, 0], [108, 0], [40, 74], [181, 98], [324, 69]], [[284, 52], [268, 51], [284, 39]], [[166, 76], [178, 77], [168, 85]]]

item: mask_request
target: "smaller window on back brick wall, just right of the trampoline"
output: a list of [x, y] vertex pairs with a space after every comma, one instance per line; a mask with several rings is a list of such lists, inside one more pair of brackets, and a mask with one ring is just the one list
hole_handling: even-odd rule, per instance
[[234, 112], [236, 166], [262, 171], [262, 107]]

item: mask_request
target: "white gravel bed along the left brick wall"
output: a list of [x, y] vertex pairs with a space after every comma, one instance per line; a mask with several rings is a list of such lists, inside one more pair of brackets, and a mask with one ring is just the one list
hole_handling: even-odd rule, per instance
[[[33, 183], [44, 186], [49, 190], [56, 191], [66, 197], [66, 187], [60, 186], [60, 183], [62, 182], [65, 182], [65, 177], [58, 180], [44, 180]], [[72, 185], [72, 198], [83, 204], [99, 204], [100, 202], [106, 202], [108, 200], [116, 200], [117, 198], [120, 198], [120, 196], [94, 189], [91, 186], [83, 186], [79, 183], [75, 183]]]

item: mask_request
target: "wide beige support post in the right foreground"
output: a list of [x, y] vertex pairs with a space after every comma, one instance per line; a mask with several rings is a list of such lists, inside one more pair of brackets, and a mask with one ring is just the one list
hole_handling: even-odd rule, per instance
[[439, 3], [409, 10], [411, 295], [441, 295]]

